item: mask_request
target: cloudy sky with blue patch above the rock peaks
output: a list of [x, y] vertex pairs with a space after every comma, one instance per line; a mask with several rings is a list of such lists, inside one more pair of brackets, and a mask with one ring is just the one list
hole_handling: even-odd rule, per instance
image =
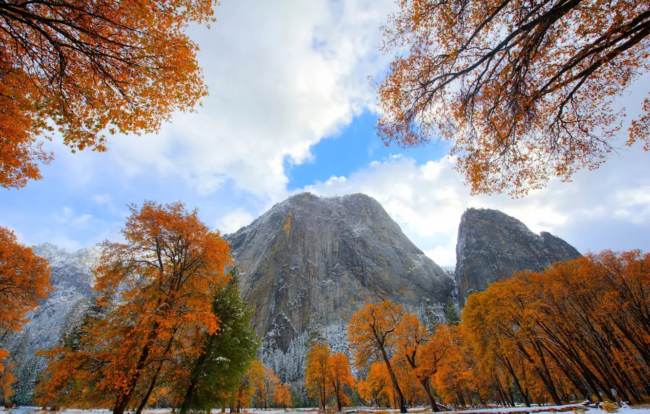
[[[650, 152], [625, 147], [597, 171], [552, 180], [523, 199], [471, 197], [448, 147], [385, 147], [371, 79], [392, 0], [222, 0], [211, 29], [192, 27], [210, 95], [158, 134], [112, 136], [109, 151], [47, 142], [44, 178], [0, 189], [0, 225], [28, 245], [67, 250], [119, 240], [127, 204], [181, 200], [223, 233], [294, 193], [366, 193], [439, 265], [454, 265], [460, 216], [502, 210], [580, 252], [650, 250]], [[621, 97], [638, 114], [644, 76]], [[636, 108], [636, 109], [635, 109]], [[622, 140], [625, 136], [621, 137]]]

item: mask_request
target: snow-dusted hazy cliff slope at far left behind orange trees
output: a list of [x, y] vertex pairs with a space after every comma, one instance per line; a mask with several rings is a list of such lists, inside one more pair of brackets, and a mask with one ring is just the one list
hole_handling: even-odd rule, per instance
[[32, 400], [35, 381], [45, 369], [45, 358], [36, 357], [37, 350], [47, 350], [59, 343], [66, 320], [73, 318], [75, 310], [83, 313], [83, 306], [92, 295], [95, 277], [92, 267], [99, 261], [98, 249], [81, 249], [69, 253], [50, 243], [44, 243], [32, 250], [51, 264], [50, 282], [55, 290], [43, 300], [36, 311], [28, 315], [31, 319], [20, 332], [8, 335], [1, 344], [10, 352], [11, 361], [18, 363], [14, 374], [18, 383], [14, 386], [19, 404]]

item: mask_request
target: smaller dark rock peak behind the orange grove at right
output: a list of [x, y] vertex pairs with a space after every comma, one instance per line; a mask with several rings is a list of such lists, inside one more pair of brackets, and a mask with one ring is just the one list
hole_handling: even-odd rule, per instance
[[580, 256], [569, 243], [548, 232], [535, 234], [521, 221], [497, 210], [469, 208], [458, 226], [455, 278], [458, 301], [509, 278], [515, 271], [541, 271], [554, 262]]

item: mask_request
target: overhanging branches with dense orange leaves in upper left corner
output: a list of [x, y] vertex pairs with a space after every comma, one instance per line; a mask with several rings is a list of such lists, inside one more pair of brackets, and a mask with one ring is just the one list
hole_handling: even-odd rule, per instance
[[[72, 151], [106, 134], [156, 132], [207, 95], [185, 29], [216, 0], [4, 1], [0, 7], [0, 185], [41, 178], [58, 130]], [[49, 136], [47, 135], [49, 134]]]

